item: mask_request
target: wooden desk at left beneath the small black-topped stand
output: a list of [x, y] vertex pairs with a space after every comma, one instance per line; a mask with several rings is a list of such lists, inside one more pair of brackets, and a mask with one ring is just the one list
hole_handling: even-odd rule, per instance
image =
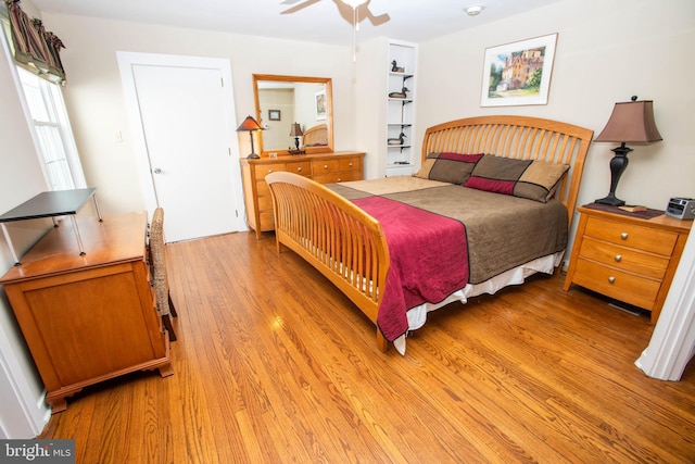
[[135, 371], [172, 375], [146, 262], [147, 214], [62, 221], [0, 278], [53, 413], [84, 387]]

